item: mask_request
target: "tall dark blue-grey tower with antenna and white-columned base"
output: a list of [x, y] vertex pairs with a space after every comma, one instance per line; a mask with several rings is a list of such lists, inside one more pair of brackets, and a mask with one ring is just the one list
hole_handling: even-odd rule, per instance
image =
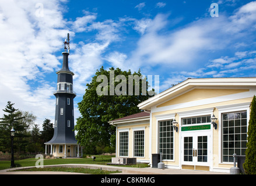
[[[79, 144], [75, 139], [73, 98], [76, 93], [73, 91], [74, 73], [68, 68], [69, 55], [69, 34], [68, 41], [64, 42], [65, 51], [62, 52], [62, 69], [57, 71], [57, 91], [56, 97], [54, 136], [45, 142], [45, 154], [50, 153], [54, 157], [79, 157]], [[50, 145], [50, 152], [47, 146]], [[82, 153], [82, 149], [81, 152]], [[82, 155], [82, 154], [81, 154]]]

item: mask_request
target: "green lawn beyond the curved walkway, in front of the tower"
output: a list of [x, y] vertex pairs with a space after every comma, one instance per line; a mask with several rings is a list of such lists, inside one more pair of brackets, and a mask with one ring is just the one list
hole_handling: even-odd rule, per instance
[[[96, 155], [96, 159], [93, 161], [92, 158], [74, 158], [74, 159], [44, 159], [44, 165], [50, 164], [69, 164], [69, 163], [78, 163], [78, 164], [107, 164], [111, 162], [111, 158], [114, 156], [103, 156]], [[36, 166], [36, 158], [29, 158], [23, 160], [15, 160], [15, 164], [19, 164], [21, 167], [27, 166]], [[9, 169], [10, 161], [0, 161], [0, 170]]]

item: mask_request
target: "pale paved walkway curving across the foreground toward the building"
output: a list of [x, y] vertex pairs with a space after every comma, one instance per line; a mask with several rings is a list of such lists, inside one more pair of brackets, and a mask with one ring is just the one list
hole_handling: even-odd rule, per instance
[[[33, 166], [34, 167], [34, 166]], [[44, 167], [83, 167], [89, 169], [102, 169], [109, 171], [122, 171], [122, 173], [116, 174], [229, 174], [229, 173], [213, 173], [210, 171], [200, 170], [180, 170], [180, 169], [157, 169], [157, 168], [133, 168], [133, 167], [118, 167], [118, 166], [107, 166], [102, 164], [55, 164], [47, 165]], [[54, 171], [22, 171], [22, 169], [28, 169], [32, 167], [16, 167], [12, 169], [0, 170], [0, 174], [82, 174], [82, 173], [68, 173], [68, 172], [54, 172]], [[20, 170], [20, 171], [10, 171]]]

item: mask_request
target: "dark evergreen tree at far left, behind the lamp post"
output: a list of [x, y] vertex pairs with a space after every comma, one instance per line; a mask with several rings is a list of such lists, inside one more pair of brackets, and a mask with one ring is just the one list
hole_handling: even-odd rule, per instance
[[9, 151], [10, 152], [10, 130], [12, 127], [15, 129], [15, 140], [14, 140], [14, 148], [19, 147], [19, 138], [23, 137], [22, 132], [25, 130], [24, 123], [22, 120], [24, 116], [22, 116], [22, 112], [18, 111], [19, 109], [15, 109], [13, 107], [15, 103], [7, 102], [5, 109], [3, 111], [6, 114], [3, 114], [3, 118], [0, 118], [0, 151]]

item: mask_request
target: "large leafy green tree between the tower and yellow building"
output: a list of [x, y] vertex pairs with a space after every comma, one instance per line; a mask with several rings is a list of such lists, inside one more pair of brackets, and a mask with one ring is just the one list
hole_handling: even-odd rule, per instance
[[[99, 95], [97, 90], [99, 91], [99, 86], [104, 80], [99, 81], [97, 77], [102, 75], [107, 77], [108, 84], [106, 87], [102, 87], [101, 90], [105, 89], [106, 91], [107, 89], [107, 92], [104, 92], [107, 94]], [[115, 81], [111, 81], [113, 75]], [[122, 76], [123, 78], [118, 78], [118, 75], [124, 76]], [[141, 112], [137, 106], [138, 103], [152, 96], [152, 92], [150, 92], [150, 95], [142, 94], [142, 81], [146, 81], [146, 77], [141, 81], [132, 81], [132, 83], [129, 81], [129, 76], [136, 75], [137, 77], [142, 76], [141, 71], [138, 70], [138, 72], [132, 74], [131, 70], [122, 71], [113, 67], [110, 70], [104, 70], [101, 67], [100, 70], [96, 71], [92, 82], [87, 84], [83, 100], [78, 103], [78, 108], [82, 116], [77, 119], [75, 126], [75, 130], [78, 131], [76, 139], [84, 146], [86, 151], [93, 153], [96, 146], [114, 146], [115, 144], [111, 144], [110, 142], [114, 140], [110, 140], [110, 138], [113, 139], [115, 137], [115, 127], [111, 126], [108, 121]], [[124, 83], [125, 86], [121, 86]], [[131, 90], [129, 90], [129, 85], [132, 85], [132, 94]], [[126, 94], [113, 95], [113, 92], [111, 94], [111, 86], [115, 87], [115, 91], [124, 91], [126, 89]], [[136, 86], [139, 86], [139, 94], [135, 94], [136, 88], [138, 88]], [[146, 90], [148, 90], [148, 82], [146, 82]]]

